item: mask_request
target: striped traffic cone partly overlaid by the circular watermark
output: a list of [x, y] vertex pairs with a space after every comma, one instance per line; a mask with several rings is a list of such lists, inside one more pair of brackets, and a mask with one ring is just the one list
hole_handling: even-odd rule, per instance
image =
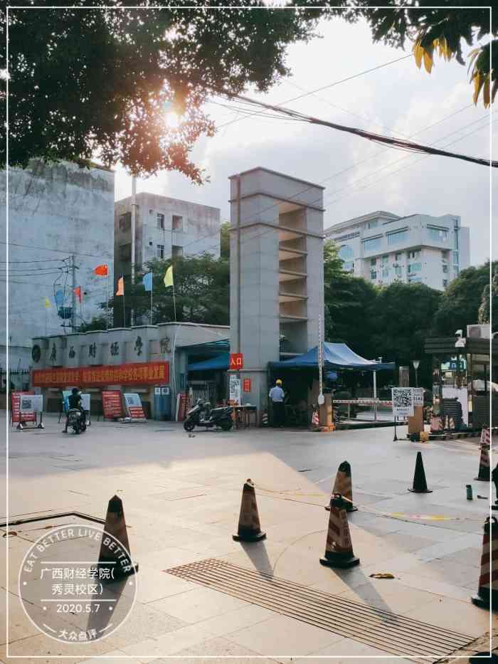
[[112, 496], [107, 506], [98, 566], [99, 569], [107, 570], [107, 574], [100, 576], [102, 580], [109, 582], [120, 581], [124, 576], [138, 571], [138, 564], [132, 562], [129, 554], [122, 500], [116, 495]]

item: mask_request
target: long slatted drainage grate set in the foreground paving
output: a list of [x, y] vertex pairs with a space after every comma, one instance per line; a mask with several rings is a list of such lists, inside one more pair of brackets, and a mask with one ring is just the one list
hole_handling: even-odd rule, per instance
[[475, 637], [279, 579], [216, 558], [164, 570], [393, 655], [449, 655]]

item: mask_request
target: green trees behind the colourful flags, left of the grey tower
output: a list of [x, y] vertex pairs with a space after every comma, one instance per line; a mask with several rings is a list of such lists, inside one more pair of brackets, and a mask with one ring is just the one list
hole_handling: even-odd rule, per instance
[[[144, 289], [144, 273], [152, 272], [152, 322], [174, 320], [173, 289], [164, 286], [164, 274], [173, 265], [176, 320], [228, 325], [230, 301], [230, 270], [224, 258], [213, 258], [209, 253], [189, 258], [150, 261], [137, 273], [136, 283], [124, 284], [126, 325], [129, 325], [133, 309], [136, 320], [150, 322], [150, 292]], [[105, 303], [102, 308], [105, 307]], [[115, 325], [123, 325], [122, 297], [110, 300]], [[125, 326], [126, 326], [125, 325]]]

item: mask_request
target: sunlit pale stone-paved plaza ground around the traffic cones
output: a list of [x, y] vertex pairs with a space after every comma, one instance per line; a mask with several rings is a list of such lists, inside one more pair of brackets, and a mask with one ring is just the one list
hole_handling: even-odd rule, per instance
[[[0, 426], [4, 423], [3, 418]], [[489, 484], [473, 481], [477, 440], [393, 443], [391, 428], [332, 434], [199, 431], [192, 438], [171, 423], [95, 422], [79, 437], [64, 436], [61, 428], [48, 417], [44, 431], [12, 431], [9, 515], [78, 510], [103, 518], [109, 498], [120, 495], [130, 548], [140, 564], [137, 604], [125, 627], [97, 643], [70, 647], [39, 633], [17, 596], [19, 565], [41, 534], [34, 524], [6, 540], [8, 579], [0, 565], [0, 584], [9, 589], [9, 655], [33, 662], [43, 660], [36, 656], [66, 655], [66, 661], [77, 662], [127, 655], [121, 661], [132, 663], [171, 655], [181, 656], [179, 662], [201, 655], [220, 661], [230, 656], [231, 662], [251, 655], [263, 655], [261, 662], [287, 662], [292, 655], [303, 663], [305, 655], [337, 658], [331, 662], [349, 656], [353, 659], [344, 659], [349, 663], [390, 657], [385, 650], [164, 572], [210, 557], [472, 638], [491, 627], [489, 612], [469, 601], [477, 589], [482, 523], [489, 509], [489, 499], [477, 498], [488, 497]], [[432, 493], [407, 491], [418, 450]], [[327, 534], [323, 505], [343, 460], [351, 463], [359, 505], [349, 525], [361, 565], [348, 571], [318, 562]], [[265, 542], [251, 545], [231, 538], [246, 478], [256, 483], [267, 532]], [[465, 499], [467, 483], [473, 486], [472, 502]], [[376, 572], [396, 578], [372, 579]], [[4, 621], [3, 606], [0, 613]], [[1, 643], [6, 641], [4, 636]], [[434, 654], [437, 659], [441, 653]], [[0, 646], [0, 659], [7, 660], [6, 645]]]

